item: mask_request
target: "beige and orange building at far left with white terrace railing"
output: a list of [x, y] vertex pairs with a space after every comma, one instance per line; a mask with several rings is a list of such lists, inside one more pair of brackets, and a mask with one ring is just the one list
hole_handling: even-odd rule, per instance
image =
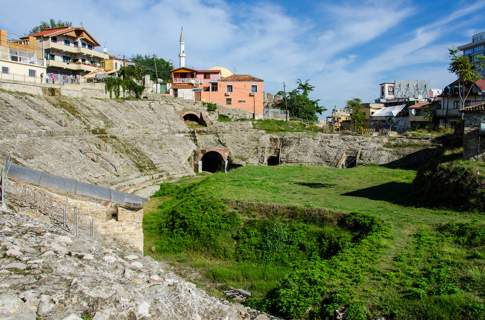
[[0, 30], [0, 79], [40, 83], [45, 61], [36, 50], [34, 37]]

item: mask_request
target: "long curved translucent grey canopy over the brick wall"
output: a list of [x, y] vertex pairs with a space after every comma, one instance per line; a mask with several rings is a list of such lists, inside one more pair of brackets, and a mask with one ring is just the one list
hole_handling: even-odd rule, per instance
[[102, 186], [78, 182], [42, 171], [27, 169], [12, 163], [7, 164], [5, 172], [8, 176], [14, 179], [63, 190], [79, 196], [109, 201], [122, 206], [138, 208], [150, 201], [145, 198], [126, 194]]

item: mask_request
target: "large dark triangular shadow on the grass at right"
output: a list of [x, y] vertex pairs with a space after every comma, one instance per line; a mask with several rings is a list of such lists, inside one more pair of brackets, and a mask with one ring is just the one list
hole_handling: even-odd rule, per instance
[[390, 202], [401, 206], [416, 206], [417, 204], [410, 198], [412, 186], [412, 183], [406, 182], [387, 182], [365, 189], [348, 192], [341, 196], [367, 198], [370, 200]]

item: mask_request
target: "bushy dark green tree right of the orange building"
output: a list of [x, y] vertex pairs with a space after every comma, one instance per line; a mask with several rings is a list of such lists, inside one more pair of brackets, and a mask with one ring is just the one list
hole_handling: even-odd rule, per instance
[[[308, 81], [309, 80], [302, 82], [298, 79], [296, 82], [298, 85], [297, 89], [286, 94], [286, 103], [288, 105], [288, 113], [290, 116], [316, 121], [318, 119], [316, 113], [322, 114], [322, 112], [327, 109], [318, 105], [319, 100], [311, 100], [308, 97], [308, 93], [315, 88], [310, 85]], [[278, 94], [281, 95], [281, 100], [277, 106], [284, 109], [284, 93], [278, 92]]]

